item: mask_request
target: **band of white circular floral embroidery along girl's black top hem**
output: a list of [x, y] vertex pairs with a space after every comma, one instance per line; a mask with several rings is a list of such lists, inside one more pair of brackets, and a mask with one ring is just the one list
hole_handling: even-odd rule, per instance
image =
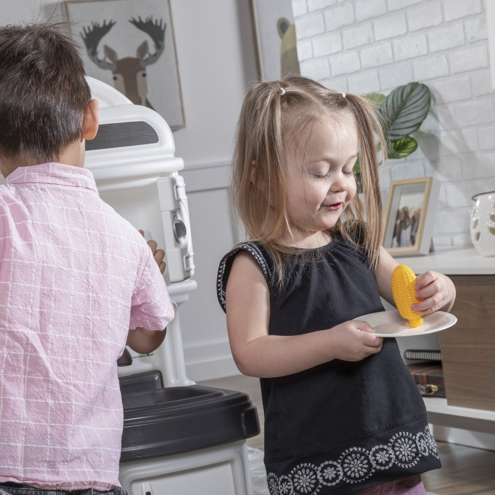
[[298, 464], [289, 475], [267, 476], [270, 495], [316, 495], [323, 486], [360, 483], [377, 470], [396, 465], [405, 469], [415, 466], [421, 457], [439, 458], [435, 440], [428, 427], [413, 435], [400, 432], [387, 445], [377, 445], [371, 450], [361, 447], [348, 448], [337, 461], [328, 460], [316, 467], [311, 463]]

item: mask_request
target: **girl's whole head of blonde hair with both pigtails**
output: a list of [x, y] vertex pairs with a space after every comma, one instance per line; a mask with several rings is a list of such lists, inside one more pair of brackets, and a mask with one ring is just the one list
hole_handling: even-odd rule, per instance
[[376, 268], [383, 223], [377, 145], [382, 160], [386, 158], [386, 145], [372, 104], [358, 95], [344, 96], [300, 76], [257, 83], [244, 100], [233, 156], [233, 202], [248, 238], [261, 242], [274, 254], [279, 282], [283, 276], [281, 255], [294, 252], [277, 244], [281, 233], [291, 232], [287, 216], [288, 144], [295, 140], [303, 143], [318, 120], [342, 123], [346, 113], [356, 124], [365, 209], [356, 194], [330, 232], [340, 233], [353, 244], [359, 238], [371, 266]]

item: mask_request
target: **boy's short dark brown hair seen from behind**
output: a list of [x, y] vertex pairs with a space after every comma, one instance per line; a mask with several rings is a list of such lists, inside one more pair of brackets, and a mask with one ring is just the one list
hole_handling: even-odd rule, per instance
[[57, 161], [81, 138], [90, 100], [68, 24], [0, 27], [0, 155]]

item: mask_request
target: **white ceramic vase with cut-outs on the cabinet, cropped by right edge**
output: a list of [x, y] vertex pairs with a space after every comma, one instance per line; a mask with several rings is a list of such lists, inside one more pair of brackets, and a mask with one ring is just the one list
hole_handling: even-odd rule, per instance
[[495, 256], [495, 191], [473, 196], [471, 241], [482, 256]]

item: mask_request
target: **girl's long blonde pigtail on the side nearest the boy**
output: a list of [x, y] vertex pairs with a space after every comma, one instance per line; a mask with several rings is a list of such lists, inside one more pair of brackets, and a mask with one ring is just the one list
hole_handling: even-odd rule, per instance
[[231, 189], [247, 239], [264, 244], [273, 253], [280, 281], [283, 264], [273, 239], [290, 229], [282, 96], [280, 86], [271, 82], [258, 83], [248, 91], [237, 124]]

